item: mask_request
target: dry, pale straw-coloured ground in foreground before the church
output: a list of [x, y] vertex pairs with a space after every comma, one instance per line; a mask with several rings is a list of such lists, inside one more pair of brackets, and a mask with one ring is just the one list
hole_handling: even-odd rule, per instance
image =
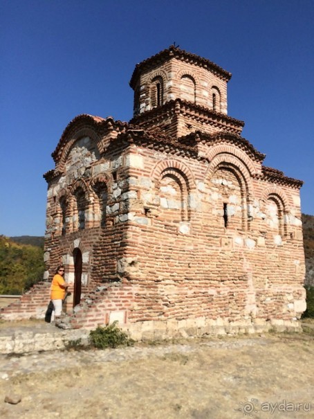
[[310, 419], [313, 371], [313, 330], [0, 355], [0, 418]]

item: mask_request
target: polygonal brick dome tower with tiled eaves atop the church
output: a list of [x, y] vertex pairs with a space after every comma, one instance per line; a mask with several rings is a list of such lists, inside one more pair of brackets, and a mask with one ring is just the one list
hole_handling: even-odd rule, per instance
[[169, 46], [136, 64], [130, 81], [134, 90], [130, 122], [159, 127], [177, 137], [196, 130], [239, 133], [243, 123], [227, 116], [230, 78], [231, 73], [210, 60]]

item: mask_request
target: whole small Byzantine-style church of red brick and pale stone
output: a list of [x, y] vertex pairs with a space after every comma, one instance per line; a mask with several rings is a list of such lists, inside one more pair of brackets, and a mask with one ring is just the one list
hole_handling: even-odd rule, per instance
[[134, 339], [163, 339], [299, 327], [302, 181], [241, 136], [230, 78], [170, 46], [136, 64], [129, 123], [68, 124], [44, 175], [44, 282], [3, 318], [43, 317], [63, 262], [64, 328], [117, 320]]

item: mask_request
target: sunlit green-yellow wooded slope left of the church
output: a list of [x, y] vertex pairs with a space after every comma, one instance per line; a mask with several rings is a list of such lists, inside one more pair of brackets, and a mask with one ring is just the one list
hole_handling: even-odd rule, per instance
[[0, 294], [22, 294], [44, 274], [44, 249], [0, 235]]

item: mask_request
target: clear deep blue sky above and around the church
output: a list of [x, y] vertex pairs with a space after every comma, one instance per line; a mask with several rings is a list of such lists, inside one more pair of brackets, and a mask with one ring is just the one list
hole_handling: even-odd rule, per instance
[[129, 121], [134, 66], [173, 42], [232, 73], [228, 114], [314, 214], [313, 1], [1, 0], [0, 15], [0, 234], [44, 235], [66, 125]]

